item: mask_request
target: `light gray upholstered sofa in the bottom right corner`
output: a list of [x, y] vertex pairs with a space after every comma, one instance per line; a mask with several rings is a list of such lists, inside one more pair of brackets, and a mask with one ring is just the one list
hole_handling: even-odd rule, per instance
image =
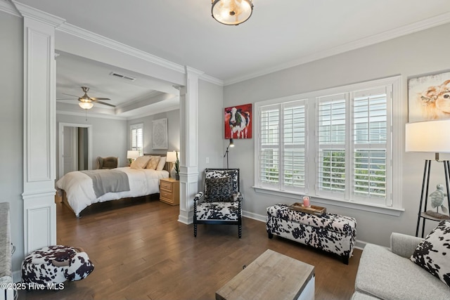
[[366, 244], [352, 299], [450, 300], [450, 288], [409, 260], [423, 239], [392, 233], [391, 248]]

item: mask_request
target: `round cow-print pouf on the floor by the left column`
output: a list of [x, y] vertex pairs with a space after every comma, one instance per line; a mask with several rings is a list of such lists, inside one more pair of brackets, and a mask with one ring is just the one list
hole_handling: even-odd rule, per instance
[[49, 246], [28, 254], [22, 262], [22, 281], [47, 285], [86, 278], [94, 270], [86, 252], [68, 246]]

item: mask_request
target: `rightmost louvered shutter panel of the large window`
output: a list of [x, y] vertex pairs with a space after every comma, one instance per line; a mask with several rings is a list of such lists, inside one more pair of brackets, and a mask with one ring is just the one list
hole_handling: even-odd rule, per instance
[[[353, 93], [354, 197], [386, 204], [389, 86]], [[390, 101], [389, 101], [390, 102]]]

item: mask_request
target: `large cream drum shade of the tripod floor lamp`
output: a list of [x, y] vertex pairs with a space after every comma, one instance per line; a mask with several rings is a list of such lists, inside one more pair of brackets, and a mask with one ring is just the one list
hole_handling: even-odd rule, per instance
[[450, 152], [450, 119], [408, 123], [405, 127], [406, 152]]

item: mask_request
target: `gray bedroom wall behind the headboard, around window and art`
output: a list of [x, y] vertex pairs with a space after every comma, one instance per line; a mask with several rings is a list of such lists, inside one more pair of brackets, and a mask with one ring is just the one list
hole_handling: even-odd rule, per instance
[[[152, 121], [167, 118], [167, 150], [152, 149]], [[156, 115], [131, 119], [127, 124], [127, 147], [130, 146], [129, 126], [143, 123], [143, 152], [148, 154], [166, 154], [167, 151], [180, 150], [180, 110], [161, 112]]]

